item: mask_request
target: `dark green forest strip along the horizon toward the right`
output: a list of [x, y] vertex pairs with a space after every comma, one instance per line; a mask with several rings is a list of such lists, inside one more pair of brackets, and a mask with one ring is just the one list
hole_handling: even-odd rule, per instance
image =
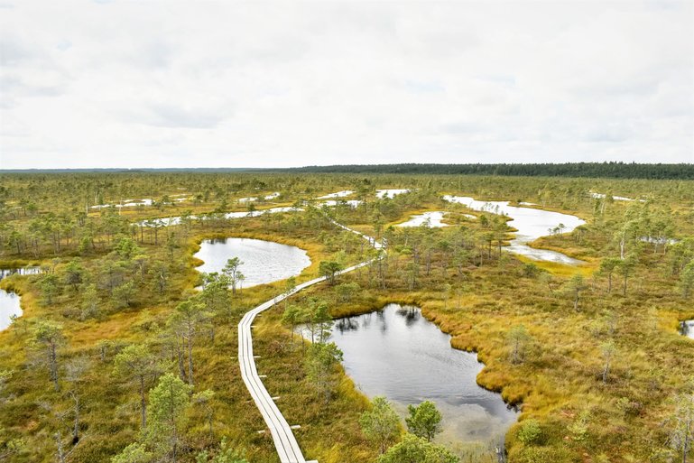
[[613, 179], [694, 180], [694, 164], [572, 162], [562, 164], [377, 164], [307, 166], [282, 171], [326, 173], [423, 173], [517, 175], [522, 177], [587, 177]]

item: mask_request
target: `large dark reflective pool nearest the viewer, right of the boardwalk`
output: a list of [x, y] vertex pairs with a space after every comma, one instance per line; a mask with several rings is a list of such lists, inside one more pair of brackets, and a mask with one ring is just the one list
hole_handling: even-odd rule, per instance
[[408, 404], [436, 403], [443, 414], [440, 442], [498, 443], [518, 413], [477, 385], [484, 367], [477, 354], [450, 347], [450, 336], [413, 306], [335, 321], [330, 338], [344, 352], [343, 365], [369, 397], [384, 395], [402, 415]]

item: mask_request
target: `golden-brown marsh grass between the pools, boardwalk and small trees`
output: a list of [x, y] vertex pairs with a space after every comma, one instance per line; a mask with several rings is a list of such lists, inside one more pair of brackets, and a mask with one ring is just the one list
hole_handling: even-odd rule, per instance
[[[124, 196], [134, 198], [171, 193], [175, 191], [171, 179], [181, 179], [140, 174], [116, 177], [132, 180], [123, 182], [120, 188]], [[228, 186], [228, 179], [224, 176], [201, 178]], [[194, 177], [183, 179], [181, 186], [191, 192], [201, 189], [196, 188], [201, 183], [195, 183]], [[254, 196], [254, 182], [257, 181], [254, 176], [239, 175], [234, 179], [246, 182], [243, 188], [234, 190], [234, 198]], [[288, 201], [273, 204], [273, 207], [319, 196], [319, 191], [355, 190], [355, 186], [365, 180], [363, 176], [329, 175], [278, 175], [263, 179], [267, 182], [263, 188], [267, 190], [281, 190], [279, 186], [275, 188], [275, 184], [282, 185], [282, 188], [289, 185], [287, 188], [291, 190]], [[14, 207], [22, 194], [29, 194], [27, 191], [30, 190], [25, 189], [24, 183], [33, 180], [23, 177], [9, 180], [8, 188], [23, 192], [8, 200], [7, 204]], [[81, 181], [93, 181], [93, 178], [84, 176], [75, 181], [82, 184]], [[594, 201], [585, 193], [588, 189], [601, 192], [612, 189], [627, 197], [650, 195], [671, 205], [671, 216], [681, 237], [694, 234], [694, 215], [691, 213], [694, 188], [691, 188], [691, 182], [395, 175], [378, 176], [368, 181], [421, 189], [416, 194], [406, 195], [410, 198], [393, 199], [388, 208], [383, 208], [384, 215], [380, 218], [374, 208], [336, 212], [338, 219], [369, 235], [375, 231], [374, 218], [381, 220], [384, 229], [425, 210], [448, 210], [452, 221], [458, 220], [457, 215], [467, 210], [440, 201], [439, 192], [431, 186], [436, 184], [438, 190], [449, 190], [452, 194], [476, 199], [530, 200], [540, 204], [541, 208], [587, 218], [591, 227], [582, 239], [575, 234], [547, 236], [533, 245], [586, 260], [588, 265], [575, 268], [535, 263], [552, 274], [550, 289], [541, 278], [524, 276], [524, 262], [507, 255], [498, 263], [492, 261], [481, 266], [468, 266], [462, 274], [450, 269], [444, 274], [436, 269], [430, 275], [421, 276], [409, 290], [403, 282], [403, 268], [409, 257], [398, 255], [397, 259], [393, 258], [393, 268], [386, 278], [385, 288], [379, 287], [375, 273], [361, 269], [340, 277], [340, 282], [358, 282], [362, 288], [352, 301], [339, 301], [327, 284], [321, 284], [295, 296], [297, 303], [303, 303], [310, 296], [324, 298], [335, 317], [378, 310], [393, 301], [420, 306], [425, 317], [451, 335], [451, 346], [477, 352], [480, 361], [486, 365], [477, 376], [478, 384], [499, 392], [508, 403], [522, 405], [519, 423], [506, 436], [509, 457], [514, 463], [632, 463], [651, 460], [653, 450], [666, 443], [668, 430], [664, 423], [673, 411], [671, 397], [683, 391], [691, 375], [694, 342], [681, 337], [677, 327], [680, 319], [694, 318], [694, 312], [691, 301], [684, 301], [680, 296], [676, 279], [668, 271], [667, 257], [660, 254], [643, 255], [626, 296], [618, 291], [606, 293], [605, 279], [596, 273], [597, 265], [606, 255], [614, 255], [610, 231], [619, 224], [629, 205], [612, 204], [605, 217], [595, 218], [592, 213]], [[67, 190], [57, 188], [56, 184], [51, 178], [43, 181], [42, 188], [56, 193], [45, 195], [42, 206], [57, 211], [83, 208], [79, 199]], [[213, 195], [210, 193], [210, 196]], [[177, 204], [163, 210], [135, 208], [124, 210], [123, 216], [133, 220], [169, 217], [180, 215], [186, 209], [192, 209], [196, 214], [214, 210], [219, 201], [210, 199], [192, 207]], [[101, 217], [101, 213], [90, 212], [89, 216]], [[167, 255], [161, 243], [159, 246], [142, 244], [147, 255], [170, 262], [171, 282], [167, 292], [160, 295], [143, 286], [138, 288], [132, 306], [121, 310], [111, 308], [102, 292], [105, 310], [98, 319], [79, 321], [65, 316], [79, 303], [79, 294], [70, 290], [63, 291], [51, 306], [45, 305], [37, 276], [13, 276], [0, 282], [3, 287], [22, 295], [24, 310], [16, 326], [0, 332], [0, 369], [8, 368], [14, 372], [5, 397], [0, 398], [5, 399], [1, 403], [0, 429], [4, 434], [0, 435], [0, 440], [19, 438], [25, 442], [25, 451], [13, 456], [14, 460], [54, 461], [53, 433], [57, 430], [67, 432], [66, 420], [60, 419], [60, 415], [69, 416], [69, 397], [66, 395], [69, 384], [63, 381], [62, 391], [54, 393], [45, 368], [38, 364], [39, 357], [30, 341], [31, 329], [38, 320], [51, 319], [63, 324], [68, 343], [60, 350], [62, 365], [78, 357], [87, 357], [91, 364], [87, 375], [79, 382], [84, 407], [83, 439], [72, 454], [72, 461], [107, 461], [133, 442], [139, 432], [136, 391], [131, 384], [111, 375], [113, 357], [119, 349], [134, 342], [149, 341], [153, 349], [162, 349], [158, 339], [160, 328], [176, 304], [199, 284], [196, 270], [199, 262], [192, 254], [198, 249], [200, 240], [238, 236], [298, 245], [308, 251], [311, 259], [310, 267], [298, 278], [301, 282], [315, 277], [320, 260], [334, 255], [334, 245], [327, 245], [325, 237], [336, 236], [336, 230], [324, 223], [304, 220], [299, 215], [294, 217], [282, 221], [279, 216], [267, 215], [209, 223], [204, 227], [194, 225], [189, 232], [174, 227], [180, 247], [172, 257]], [[24, 227], [30, 220], [32, 217], [17, 215], [11, 222], [14, 226]], [[480, 229], [479, 220], [460, 219], [460, 223], [471, 230]], [[445, 237], [450, 232], [439, 230], [432, 234]], [[37, 259], [9, 253], [3, 255], [3, 262], [7, 266], [35, 263], [52, 266], [53, 259], [58, 258], [60, 268], [69, 258], [79, 256], [83, 264], [93, 270], [107, 252], [106, 246], [85, 255], [70, 249], [64, 255], [56, 256], [44, 250]], [[435, 261], [441, 256], [435, 255]], [[349, 263], [360, 257], [363, 256], [356, 252], [347, 253]], [[577, 271], [584, 274], [588, 282], [578, 312], [573, 310], [569, 295], [563, 290], [569, 276]], [[185, 458], [190, 460], [195, 450], [212, 448], [221, 436], [227, 436], [235, 448], [245, 449], [250, 461], [277, 461], [270, 436], [266, 432], [257, 432], [264, 429], [264, 421], [238, 373], [236, 323], [245, 310], [281, 293], [283, 285], [284, 282], [275, 282], [244, 289], [233, 303], [233, 315], [217, 327], [215, 342], [201, 339], [194, 348], [197, 387], [210, 388], [217, 393], [214, 401], [217, 435], [215, 441], [208, 440], [203, 416], [199, 410], [193, 410]], [[317, 394], [303, 373], [301, 344], [296, 337], [291, 342], [291, 333], [279, 323], [281, 314], [282, 305], [267, 311], [257, 320], [254, 349], [261, 356], [258, 367], [267, 375], [265, 384], [268, 390], [272, 395], [281, 396], [278, 406], [288, 421], [301, 425], [296, 432], [304, 453], [310, 458], [318, 458], [321, 463], [372, 461], [375, 449], [366, 443], [357, 424], [358, 414], [366, 409], [366, 398], [343, 371], [338, 371], [339, 385], [334, 400], [328, 405], [317, 400]], [[523, 363], [514, 365], [510, 361], [506, 333], [521, 323], [532, 336], [532, 343], [527, 347]], [[617, 350], [609, 380], [603, 384], [600, 379], [603, 367], [600, 345], [607, 338], [614, 339]], [[108, 342], [104, 350], [105, 341]], [[104, 351], [106, 354], [102, 360]], [[626, 408], [620, 405], [624, 403], [620, 402], [623, 398], [634, 405]], [[45, 404], [50, 404], [51, 410], [47, 410]], [[540, 441], [531, 445], [518, 439], [519, 426], [530, 418], [540, 423], [542, 435]], [[460, 451], [468, 459], [478, 457], [477, 453], [475, 457], [472, 453], [464, 453], [477, 450]], [[483, 459], [474, 461], [484, 462]]]

